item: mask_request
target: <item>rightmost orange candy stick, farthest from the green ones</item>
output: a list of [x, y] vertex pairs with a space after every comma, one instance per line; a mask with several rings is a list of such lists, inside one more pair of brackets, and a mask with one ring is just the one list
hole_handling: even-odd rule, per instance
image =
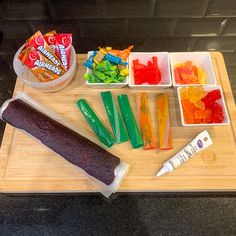
[[171, 139], [168, 95], [166, 93], [158, 95], [156, 105], [160, 150], [170, 150], [173, 147]]

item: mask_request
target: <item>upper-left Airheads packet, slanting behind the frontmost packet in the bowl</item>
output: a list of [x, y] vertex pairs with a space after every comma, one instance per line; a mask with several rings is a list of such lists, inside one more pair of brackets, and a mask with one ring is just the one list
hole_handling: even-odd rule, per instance
[[40, 31], [37, 31], [31, 38], [29, 38], [26, 41], [25, 47], [22, 50], [22, 53], [24, 53], [24, 51], [27, 48], [31, 48], [31, 47], [41, 52], [49, 61], [51, 61], [57, 67], [61, 68], [61, 70], [65, 70], [60, 59], [55, 55], [52, 49], [48, 46], [48, 44], [46, 43]]

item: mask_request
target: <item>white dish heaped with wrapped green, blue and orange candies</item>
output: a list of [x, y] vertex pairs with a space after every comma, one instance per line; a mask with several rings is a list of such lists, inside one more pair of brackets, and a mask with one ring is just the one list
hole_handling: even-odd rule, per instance
[[87, 68], [84, 75], [86, 84], [95, 88], [122, 88], [128, 84], [127, 58], [133, 46], [118, 50], [111, 47], [89, 51], [83, 65]]

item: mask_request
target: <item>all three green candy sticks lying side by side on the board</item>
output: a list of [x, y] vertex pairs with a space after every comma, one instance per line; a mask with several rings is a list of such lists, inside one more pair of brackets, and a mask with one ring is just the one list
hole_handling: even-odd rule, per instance
[[101, 92], [101, 97], [112, 127], [114, 137], [112, 137], [103, 122], [98, 118], [96, 113], [84, 99], [80, 99], [77, 102], [77, 106], [79, 107], [81, 113], [84, 115], [92, 130], [95, 132], [98, 139], [105, 146], [111, 147], [115, 142], [123, 143], [128, 141], [130, 138], [133, 148], [142, 147], [142, 136], [130, 107], [128, 96], [126, 94], [121, 94], [117, 97], [124, 122], [116, 107], [111, 92]]

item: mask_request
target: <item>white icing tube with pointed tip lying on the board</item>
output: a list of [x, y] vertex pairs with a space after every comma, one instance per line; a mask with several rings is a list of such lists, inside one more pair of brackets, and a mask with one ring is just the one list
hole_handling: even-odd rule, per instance
[[172, 158], [166, 161], [162, 168], [157, 172], [157, 176], [172, 172], [177, 167], [181, 166], [189, 158], [193, 157], [198, 152], [212, 145], [213, 142], [209, 133], [205, 130], [197, 135], [188, 145], [176, 153]]

